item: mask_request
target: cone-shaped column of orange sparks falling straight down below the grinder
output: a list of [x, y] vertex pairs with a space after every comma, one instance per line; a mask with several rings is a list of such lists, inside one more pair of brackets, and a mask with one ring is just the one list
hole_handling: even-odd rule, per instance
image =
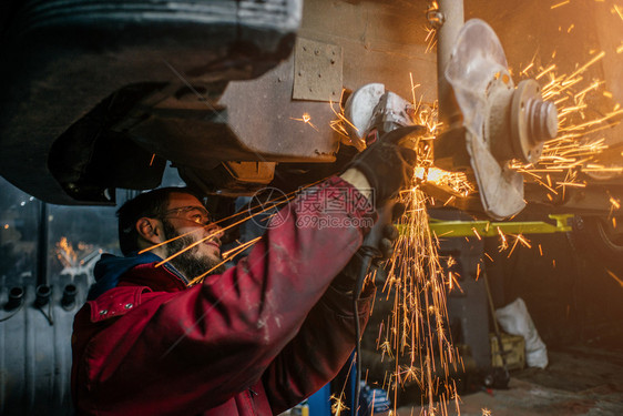
[[[421, 149], [426, 154], [426, 146]], [[386, 388], [396, 398], [400, 386], [417, 384], [428, 402], [428, 414], [433, 415], [438, 406], [445, 409], [448, 398], [457, 396], [448, 379], [450, 372], [459, 368], [460, 358], [448, 332], [446, 296], [460, 286], [451, 273], [445, 276], [419, 182], [413, 176], [412, 186], [400, 195], [409, 214], [401, 220], [405, 232], [388, 262], [384, 293], [394, 293], [394, 307], [380, 344], [389, 345], [396, 356]], [[448, 258], [448, 263], [452, 261]]]

